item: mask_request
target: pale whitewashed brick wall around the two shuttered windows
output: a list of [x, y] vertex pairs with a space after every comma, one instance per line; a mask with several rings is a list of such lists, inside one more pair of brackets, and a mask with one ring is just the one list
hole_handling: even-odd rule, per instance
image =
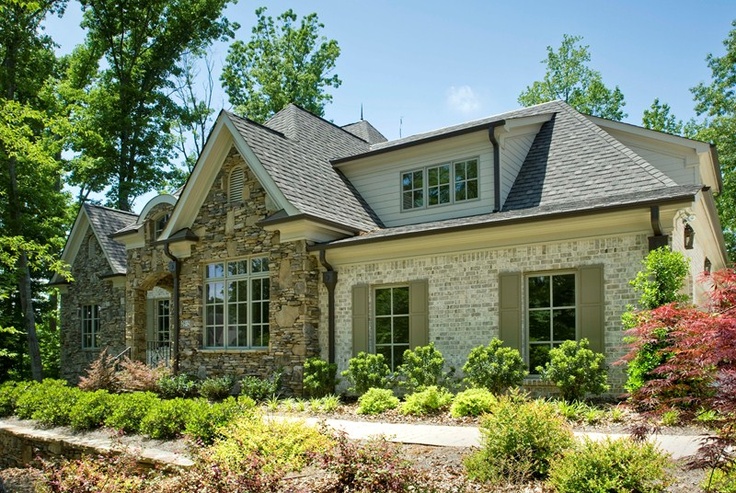
[[[605, 276], [606, 355], [611, 365], [624, 354], [621, 314], [636, 296], [629, 286], [648, 252], [646, 235], [566, 241], [546, 245], [489, 248], [463, 253], [405, 258], [335, 266], [339, 281], [336, 298], [336, 362], [347, 368], [352, 357], [351, 288], [400, 284], [427, 279], [429, 284], [429, 340], [442, 351], [449, 366], [460, 370], [470, 350], [498, 335], [498, 274], [545, 272], [602, 264]], [[327, 256], [329, 261], [329, 253]], [[327, 293], [323, 286], [322, 326], [327, 327]], [[371, 299], [371, 303], [372, 303]], [[373, 327], [371, 327], [371, 330]], [[327, 348], [327, 331], [320, 332]], [[610, 382], [620, 390], [621, 367], [611, 366]]]

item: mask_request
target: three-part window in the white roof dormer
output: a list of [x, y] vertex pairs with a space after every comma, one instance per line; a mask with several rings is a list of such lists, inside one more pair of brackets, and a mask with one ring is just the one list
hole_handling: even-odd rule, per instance
[[442, 163], [401, 174], [401, 207], [405, 211], [477, 198], [478, 158]]

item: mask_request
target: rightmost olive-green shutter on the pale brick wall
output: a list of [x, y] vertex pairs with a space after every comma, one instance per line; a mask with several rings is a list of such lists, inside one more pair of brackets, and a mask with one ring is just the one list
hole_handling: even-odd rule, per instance
[[603, 266], [580, 268], [580, 337], [590, 341], [590, 349], [605, 349]]

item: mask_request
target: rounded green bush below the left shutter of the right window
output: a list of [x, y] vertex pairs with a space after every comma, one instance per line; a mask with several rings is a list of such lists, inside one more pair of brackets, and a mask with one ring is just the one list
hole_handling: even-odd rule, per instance
[[500, 394], [510, 387], [518, 387], [529, 372], [518, 350], [504, 347], [493, 338], [488, 346], [473, 348], [463, 365], [465, 383]]

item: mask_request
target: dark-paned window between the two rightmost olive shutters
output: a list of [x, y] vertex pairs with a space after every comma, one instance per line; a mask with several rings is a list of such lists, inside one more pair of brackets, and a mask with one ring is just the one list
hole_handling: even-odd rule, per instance
[[577, 334], [575, 274], [527, 277], [529, 371], [549, 361], [549, 350]]

